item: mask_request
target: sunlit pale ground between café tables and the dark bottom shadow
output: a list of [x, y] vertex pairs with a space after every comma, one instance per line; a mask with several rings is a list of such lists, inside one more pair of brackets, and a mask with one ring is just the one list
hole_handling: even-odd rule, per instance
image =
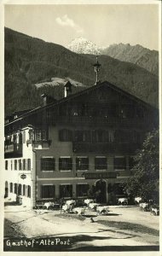
[[[5, 207], [5, 218], [12, 228], [32, 239], [69, 238], [72, 249], [78, 247], [159, 245], [159, 217], [140, 212], [138, 207], [111, 207], [107, 216], [87, 211], [84, 219], [68, 218], [60, 211], [27, 211], [21, 206]], [[90, 222], [92, 217], [95, 222]], [[101, 221], [103, 222], [101, 224]], [[128, 228], [121, 224], [128, 224]], [[137, 226], [133, 230], [132, 225]], [[134, 226], [133, 226], [134, 227]], [[153, 231], [153, 232], [152, 232]], [[18, 235], [16, 235], [18, 236]], [[6, 237], [9, 234], [6, 233]]]

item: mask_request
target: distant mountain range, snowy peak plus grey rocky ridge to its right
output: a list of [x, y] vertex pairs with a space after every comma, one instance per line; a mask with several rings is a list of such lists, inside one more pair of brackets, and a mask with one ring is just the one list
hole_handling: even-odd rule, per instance
[[109, 55], [119, 61], [126, 61], [147, 69], [158, 76], [159, 53], [140, 44], [110, 44], [108, 47], [99, 47], [85, 38], [75, 38], [67, 49], [79, 54]]

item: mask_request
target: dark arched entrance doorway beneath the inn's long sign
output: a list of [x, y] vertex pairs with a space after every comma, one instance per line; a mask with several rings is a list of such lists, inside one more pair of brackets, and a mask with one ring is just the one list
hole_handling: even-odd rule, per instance
[[104, 180], [98, 180], [95, 183], [95, 197], [96, 202], [106, 203], [107, 202], [107, 183]]

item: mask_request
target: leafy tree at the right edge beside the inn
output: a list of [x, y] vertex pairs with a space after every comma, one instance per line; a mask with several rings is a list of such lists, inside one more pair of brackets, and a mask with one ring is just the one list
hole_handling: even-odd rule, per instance
[[144, 201], [159, 201], [159, 131], [148, 133], [142, 149], [134, 157], [135, 165], [124, 190], [131, 196], [141, 196]]

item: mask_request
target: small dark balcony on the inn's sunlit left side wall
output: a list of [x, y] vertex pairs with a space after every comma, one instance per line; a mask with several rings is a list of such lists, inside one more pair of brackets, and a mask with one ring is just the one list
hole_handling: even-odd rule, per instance
[[16, 157], [22, 155], [22, 144], [12, 143], [4, 146], [4, 154], [10, 157]]

